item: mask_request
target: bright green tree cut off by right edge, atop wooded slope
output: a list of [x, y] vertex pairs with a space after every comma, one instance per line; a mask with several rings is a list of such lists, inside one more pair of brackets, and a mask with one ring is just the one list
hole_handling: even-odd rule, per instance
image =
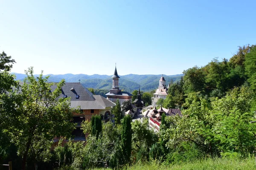
[[256, 90], [256, 46], [245, 55], [245, 72], [252, 89]]

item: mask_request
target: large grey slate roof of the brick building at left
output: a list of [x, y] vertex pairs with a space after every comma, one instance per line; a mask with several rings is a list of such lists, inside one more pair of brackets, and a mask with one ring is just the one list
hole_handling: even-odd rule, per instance
[[[56, 86], [53, 86], [52, 90], [55, 88]], [[64, 97], [64, 95], [70, 97], [72, 108], [80, 107], [80, 109], [105, 109], [116, 105], [100, 95], [93, 95], [79, 82], [66, 82], [66, 84], [62, 87], [62, 94], [58, 98]], [[78, 98], [77, 95], [79, 95]]]

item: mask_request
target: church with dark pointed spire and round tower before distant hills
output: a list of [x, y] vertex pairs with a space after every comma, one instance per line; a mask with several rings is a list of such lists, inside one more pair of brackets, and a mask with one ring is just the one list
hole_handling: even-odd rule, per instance
[[132, 94], [122, 91], [119, 89], [119, 76], [117, 74], [117, 70], [115, 68], [114, 74], [111, 77], [112, 80], [112, 89], [106, 94], [107, 99], [110, 100], [111, 102], [116, 102], [117, 99], [119, 99], [120, 105], [122, 105], [123, 102], [125, 101], [131, 101]]

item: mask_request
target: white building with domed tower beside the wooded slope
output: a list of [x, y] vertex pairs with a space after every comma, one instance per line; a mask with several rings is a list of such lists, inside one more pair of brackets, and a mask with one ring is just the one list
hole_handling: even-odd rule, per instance
[[163, 75], [159, 80], [159, 86], [156, 92], [153, 94], [152, 97], [152, 105], [156, 106], [158, 99], [166, 99], [167, 97], [167, 88], [166, 88], [166, 80], [164, 79]]

